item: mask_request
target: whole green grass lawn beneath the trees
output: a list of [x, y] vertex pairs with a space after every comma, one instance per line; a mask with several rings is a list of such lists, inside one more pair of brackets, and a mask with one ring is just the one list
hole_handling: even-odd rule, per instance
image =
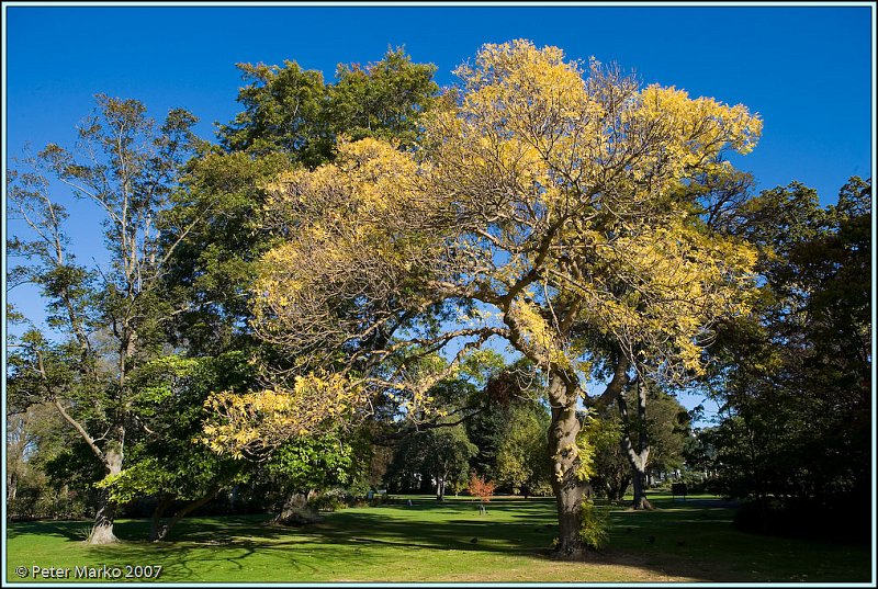
[[[263, 525], [268, 516], [192, 518], [151, 544], [148, 522], [121, 520], [111, 546], [82, 543], [89, 522], [8, 528], [7, 581], [34, 565], [156, 566], [169, 582], [867, 582], [864, 545], [745, 534], [733, 510], [651, 495], [651, 512], [611, 508], [610, 542], [585, 562], [549, 558], [553, 499], [495, 498], [480, 516], [469, 498], [351, 508], [311, 528]], [[29, 576], [26, 581], [34, 579]], [[89, 580], [89, 579], [82, 579]], [[125, 580], [119, 579], [119, 580]], [[142, 579], [143, 580], [143, 579]], [[93, 582], [94, 579], [91, 579]], [[46, 579], [45, 582], [58, 582]]]

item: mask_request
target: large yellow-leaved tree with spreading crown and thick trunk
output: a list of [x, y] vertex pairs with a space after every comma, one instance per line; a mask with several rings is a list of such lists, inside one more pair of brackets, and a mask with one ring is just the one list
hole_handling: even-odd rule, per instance
[[[432, 383], [503, 339], [548, 383], [559, 552], [575, 555], [579, 401], [611, 403], [632, 371], [698, 372], [710, 326], [744, 307], [752, 252], [701, 230], [678, 188], [724, 166], [724, 150], [747, 151], [761, 124], [744, 106], [640, 89], [596, 63], [585, 76], [529, 42], [486, 45], [458, 75], [416, 154], [346, 143], [334, 163], [271, 188], [285, 242], [263, 258], [255, 327], [301, 363], [263, 432], [316, 424], [291, 409], [300, 397], [322, 419], [387, 392], [423, 412]], [[589, 349], [597, 338], [612, 342], [606, 356]], [[406, 370], [441, 349], [444, 370]], [[327, 359], [339, 369], [314, 373]], [[592, 397], [596, 361], [612, 375]], [[214, 433], [230, 443], [235, 428]]]

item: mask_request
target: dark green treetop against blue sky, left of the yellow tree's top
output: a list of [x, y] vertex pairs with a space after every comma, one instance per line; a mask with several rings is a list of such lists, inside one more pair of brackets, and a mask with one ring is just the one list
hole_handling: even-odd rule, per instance
[[295, 61], [238, 68], [250, 83], [238, 93], [245, 111], [219, 127], [223, 147], [257, 156], [282, 152], [309, 168], [333, 159], [342, 134], [412, 146], [418, 120], [439, 90], [436, 67], [413, 64], [401, 48], [365, 67], [339, 65], [334, 84]]

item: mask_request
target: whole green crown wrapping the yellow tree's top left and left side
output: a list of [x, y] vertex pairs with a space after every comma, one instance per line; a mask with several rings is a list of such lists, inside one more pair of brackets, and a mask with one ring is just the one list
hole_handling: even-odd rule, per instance
[[[165, 276], [189, 303], [175, 317], [177, 339], [198, 354], [254, 346], [247, 322], [255, 261], [274, 237], [266, 185], [291, 166], [331, 161], [340, 136], [410, 147], [438, 92], [436, 67], [413, 63], [402, 48], [367, 66], [339, 64], [335, 82], [289, 60], [238, 68], [244, 110], [221, 125], [218, 145], [188, 162], [175, 194], [177, 224], [204, 218], [176, 247]], [[167, 245], [176, 238], [167, 234]]]

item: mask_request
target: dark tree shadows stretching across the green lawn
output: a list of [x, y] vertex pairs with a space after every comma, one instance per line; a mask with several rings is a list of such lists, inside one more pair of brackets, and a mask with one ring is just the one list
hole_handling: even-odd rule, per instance
[[[657, 509], [649, 512], [611, 508], [609, 546], [592, 553], [587, 562], [714, 582], [804, 580], [796, 578], [797, 574], [811, 575], [808, 580], [819, 580], [821, 575], [833, 581], [868, 578], [868, 558], [864, 560], [858, 553], [845, 556], [826, 552], [831, 546], [735, 531], [732, 509], [669, 500], [654, 505]], [[142, 558], [144, 547], [149, 546], [156, 562], [166, 566], [162, 580], [172, 581], [199, 580], [229, 566], [251, 575], [259, 559], [250, 557], [257, 553], [277, 556], [275, 562], [283, 562], [293, 576], [316, 571], [314, 564], [325, 566], [327, 558], [352, 568], [381, 567], [386, 553], [370, 546], [550, 558], [558, 535], [553, 500], [495, 500], [487, 509], [486, 516], [480, 516], [474, 501], [425, 499], [410, 507], [341, 510], [328, 514], [323, 523], [303, 528], [266, 525], [269, 514], [192, 518], [180, 522], [171, 542], [158, 544], [145, 542], [147, 521], [122, 520], [116, 535], [125, 542], [101, 550], [117, 562], [132, 562]], [[75, 542], [85, 537], [82, 531], [89, 525], [87, 521], [29, 522], [8, 532], [13, 539], [36, 534]], [[417, 552], [410, 557], [417, 559]], [[453, 563], [449, 567], [451, 570]]]

